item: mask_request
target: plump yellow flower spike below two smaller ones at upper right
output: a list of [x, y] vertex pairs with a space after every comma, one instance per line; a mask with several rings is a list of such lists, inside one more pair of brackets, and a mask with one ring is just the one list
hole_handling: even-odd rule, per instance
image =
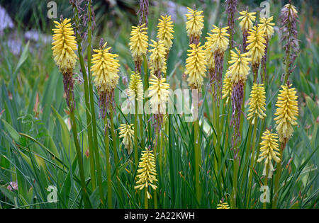
[[252, 64], [260, 64], [262, 57], [264, 57], [264, 49], [266, 48], [266, 35], [260, 26], [252, 27], [250, 31], [248, 31], [248, 34], [247, 43], [249, 43], [249, 45], [247, 45], [246, 50], [252, 58]]

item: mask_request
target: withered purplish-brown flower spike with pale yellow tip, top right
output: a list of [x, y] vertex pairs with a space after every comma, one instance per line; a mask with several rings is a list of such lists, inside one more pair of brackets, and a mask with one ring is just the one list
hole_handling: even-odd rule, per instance
[[284, 45], [286, 53], [284, 84], [287, 84], [290, 74], [295, 69], [293, 63], [295, 62], [299, 51], [298, 31], [296, 27], [296, 23], [298, 22], [298, 11], [296, 10], [296, 7], [289, 3], [286, 4], [284, 8], [281, 8], [280, 20], [282, 30], [281, 41], [286, 42]]

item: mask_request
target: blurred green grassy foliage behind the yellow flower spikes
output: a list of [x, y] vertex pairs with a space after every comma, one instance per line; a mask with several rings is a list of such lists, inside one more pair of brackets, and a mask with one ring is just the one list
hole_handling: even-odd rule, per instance
[[[38, 7], [31, 7], [30, 1], [23, 0], [0, 1], [14, 18], [17, 32], [23, 33], [24, 30], [35, 28], [41, 33], [50, 33], [51, 21], [46, 18], [46, 5], [42, 3]], [[72, 9], [69, 7], [68, 1], [59, 4], [58, 13], [63, 13], [65, 17], [72, 17]], [[120, 84], [116, 91], [116, 105], [120, 106], [123, 99], [119, 99], [121, 91], [127, 88], [130, 70], [134, 69], [134, 64], [130, 52], [128, 50], [128, 41], [130, 35], [130, 26], [137, 25], [138, 19], [135, 16], [137, 4], [133, 1], [116, 1], [118, 4], [111, 10], [106, 1], [94, 1], [96, 9], [96, 27], [99, 32], [93, 39], [93, 47], [98, 48], [99, 39], [104, 38], [108, 45], [113, 47], [113, 52], [120, 55], [121, 63]], [[186, 12], [183, 6], [192, 6], [196, 3], [198, 8], [204, 11], [204, 28], [201, 42], [203, 42], [213, 24], [222, 23], [225, 25], [226, 15], [224, 13], [225, 6], [223, 1], [159, 1], [150, 6], [150, 18], [148, 25], [148, 34], [150, 39], [156, 40], [156, 26], [160, 15], [174, 13], [172, 15], [174, 21], [174, 40], [173, 46], [167, 60], [167, 79], [171, 88], [187, 88], [187, 82], [183, 74], [185, 71], [186, 50], [188, 50], [189, 39], [185, 30]], [[238, 11], [250, 7], [250, 11], [257, 11], [259, 2], [257, 1], [240, 1]], [[284, 51], [281, 49], [280, 32], [279, 32], [279, 10], [283, 3], [271, 4], [274, 8], [271, 10], [276, 22], [275, 35], [269, 45], [269, 65], [267, 74], [271, 74], [269, 79], [269, 88], [267, 88], [267, 118], [265, 126], [274, 126], [272, 114], [275, 113], [276, 96], [281, 84], [281, 74], [284, 71]], [[281, 190], [281, 198], [277, 207], [317, 207], [318, 202], [318, 125], [319, 125], [319, 109], [318, 109], [318, 18], [313, 15], [316, 4], [306, 4], [306, 1], [296, 1], [299, 11], [298, 24], [299, 36], [301, 40], [301, 52], [296, 59], [296, 69], [291, 75], [291, 82], [298, 92], [298, 104], [300, 115], [298, 117], [298, 127], [295, 128], [293, 137], [289, 141], [288, 147], [284, 151], [284, 171], [282, 174], [282, 182], [285, 186]], [[15, 11], [17, 10], [17, 11]], [[183, 11], [184, 10], [184, 11]], [[128, 13], [130, 11], [130, 13]], [[257, 12], [258, 13], [258, 12]], [[104, 18], [105, 16], [105, 18]], [[239, 15], [237, 15], [239, 16]], [[237, 44], [241, 42], [241, 32], [235, 21], [235, 41]], [[10, 32], [10, 31], [7, 31]], [[23, 50], [19, 55], [13, 55], [11, 48], [8, 46], [9, 33], [0, 37], [1, 54], [0, 57], [0, 207], [82, 207], [80, 198], [80, 186], [77, 169], [77, 159], [75, 159], [75, 151], [72, 146], [72, 138], [69, 133], [69, 118], [67, 113], [67, 105], [62, 86], [62, 75], [58, 72], [52, 59], [52, 50], [50, 50], [50, 42], [27, 42], [22, 40]], [[17, 38], [19, 35], [15, 35]], [[225, 56], [227, 57], [227, 56]], [[88, 149], [86, 131], [86, 118], [84, 108], [84, 95], [82, 74], [77, 67], [76, 87], [74, 89], [77, 101], [77, 118], [79, 125], [79, 139], [83, 154]], [[247, 80], [247, 89], [251, 89], [252, 78]], [[250, 91], [245, 92], [245, 112], [248, 110], [248, 99]], [[203, 96], [204, 96], [203, 92]], [[97, 101], [97, 100], [96, 100]], [[210, 103], [208, 99], [207, 103]], [[206, 107], [207, 106], [207, 107]], [[96, 110], [98, 105], [96, 104]], [[206, 122], [202, 124], [203, 132], [201, 134], [209, 141], [210, 135], [206, 134], [211, 129], [209, 118], [210, 105], [203, 104], [203, 116]], [[97, 116], [98, 114], [96, 114]], [[133, 123], [133, 118], [125, 117], [118, 113], [115, 118], [116, 129], [121, 123], [128, 121]], [[188, 207], [204, 207], [216, 208], [219, 200], [225, 198], [230, 199], [232, 188], [231, 171], [225, 175], [223, 179], [227, 184], [224, 188], [216, 188], [213, 179], [218, 176], [217, 172], [211, 170], [210, 159], [213, 158], [215, 148], [211, 148], [209, 144], [203, 147], [205, 151], [206, 163], [203, 168], [207, 172], [202, 171], [203, 194], [206, 200], [201, 204], [196, 203], [194, 195], [194, 183], [191, 174], [193, 172], [189, 168], [192, 156], [191, 126], [183, 122], [182, 117], [174, 115], [172, 118], [176, 125], [172, 126], [172, 131], [165, 136], [163, 163], [165, 165], [158, 167], [159, 188], [157, 189], [158, 207], [171, 208], [188, 208]], [[105, 164], [105, 155], [103, 144], [103, 128], [98, 120], [98, 137], [101, 140], [101, 164]], [[146, 125], [146, 121], [143, 122]], [[141, 128], [142, 129], [142, 128]], [[243, 126], [242, 132], [248, 132], [247, 123]], [[20, 134], [22, 133], [22, 134]], [[247, 133], [245, 133], [247, 134]], [[260, 135], [261, 132], [258, 132]], [[172, 141], [166, 142], [167, 138]], [[243, 135], [243, 143], [240, 152], [245, 154], [245, 139], [247, 135]], [[148, 145], [152, 142], [147, 142]], [[130, 165], [130, 156], [127, 154], [121, 140], [117, 139], [119, 154], [123, 157], [120, 171], [121, 188], [115, 186], [117, 180], [113, 183], [113, 194], [117, 199], [114, 207], [132, 207], [140, 208], [140, 194], [134, 190], [135, 179], [130, 174], [132, 168]], [[113, 149], [113, 147], [111, 147]], [[144, 149], [144, 148], [142, 148]], [[52, 157], [55, 157], [52, 159]], [[226, 156], [224, 156], [226, 157]], [[223, 160], [225, 167], [231, 164], [228, 159]], [[84, 166], [89, 167], [89, 159], [84, 156]], [[113, 166], [112, 166], [113, 167]], [[257, 165], [254, 181], [261, 183], [259, 177], [262, 176], [263, 165]], [[36, 170], [36, 171], [35, 171]], [[164, 174], [161, 174], [164, 173]], [[245, 178], [245, 171], [240, 171], [241, 183], [247, 184], [248, 179]], [[115, 173], [113, 173], [114, 176]], [[85, 175], [89, 176], [89, 168], [85, 169]], [[106, 188], [106, 166], [103, 166], [103, 186]], [[247, 180], [247, 181], [245, 181]], [[18, 190], [7, 190], [6, 186], [11, 181], [18, 182]], [[90, 181], [86, 178], [86, 181]], [[262, 207], [259, 202], [259, 185], [255, 184], [251, 194], [247, 191], [243, 195], [245, 202], [238, 207]], [[3, 185], [3, 186], [1, 186]], [[47, 202], [48, 185], [56, 185], [58, 193], [58, 203]], [[117, 185], [117, 184], [116, 184]], [[122, 190], [122, 194], [118, 191]], [[229, 193], [229, 194], [228, 194]], [[99, 196], [97, 190], [90, 191], [90, 200], [93, 207], [99, 207]], [[254, 202], [248, 202], [247, 195], [254, 198]], [[152, 207], [152, 204], [150, 204]], [[101, 207], [101, 206], [100, 206]]]

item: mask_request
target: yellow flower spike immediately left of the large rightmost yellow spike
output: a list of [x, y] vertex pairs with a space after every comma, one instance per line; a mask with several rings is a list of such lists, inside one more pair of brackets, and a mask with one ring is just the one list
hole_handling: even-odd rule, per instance
[[248, 114], [248, 120], [252, 118], [252, 125], [254, 125], [254, 121], [256, 115], [260, 119], [264, 119], [266, 114], [265, 105], [266, 105], [266, 96], [264, 91], [264, 84], [253, 84], [252, 85], [252, 92], [250, 93], [250, 109]]

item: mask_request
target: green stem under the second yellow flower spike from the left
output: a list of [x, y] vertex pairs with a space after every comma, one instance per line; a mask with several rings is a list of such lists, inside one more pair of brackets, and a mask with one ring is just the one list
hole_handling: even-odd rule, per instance
[[110, 163], [110, 139], [108, 137], [108, 122], [107, 118], [104, 118], [105, 125], [105, 154], [106, 154], [106, 174], [107, 174], [107, 185], [108, 185], [108, 208], [113, 208], [112, 205], [112, 185], [111, 185], [111, 163]]

